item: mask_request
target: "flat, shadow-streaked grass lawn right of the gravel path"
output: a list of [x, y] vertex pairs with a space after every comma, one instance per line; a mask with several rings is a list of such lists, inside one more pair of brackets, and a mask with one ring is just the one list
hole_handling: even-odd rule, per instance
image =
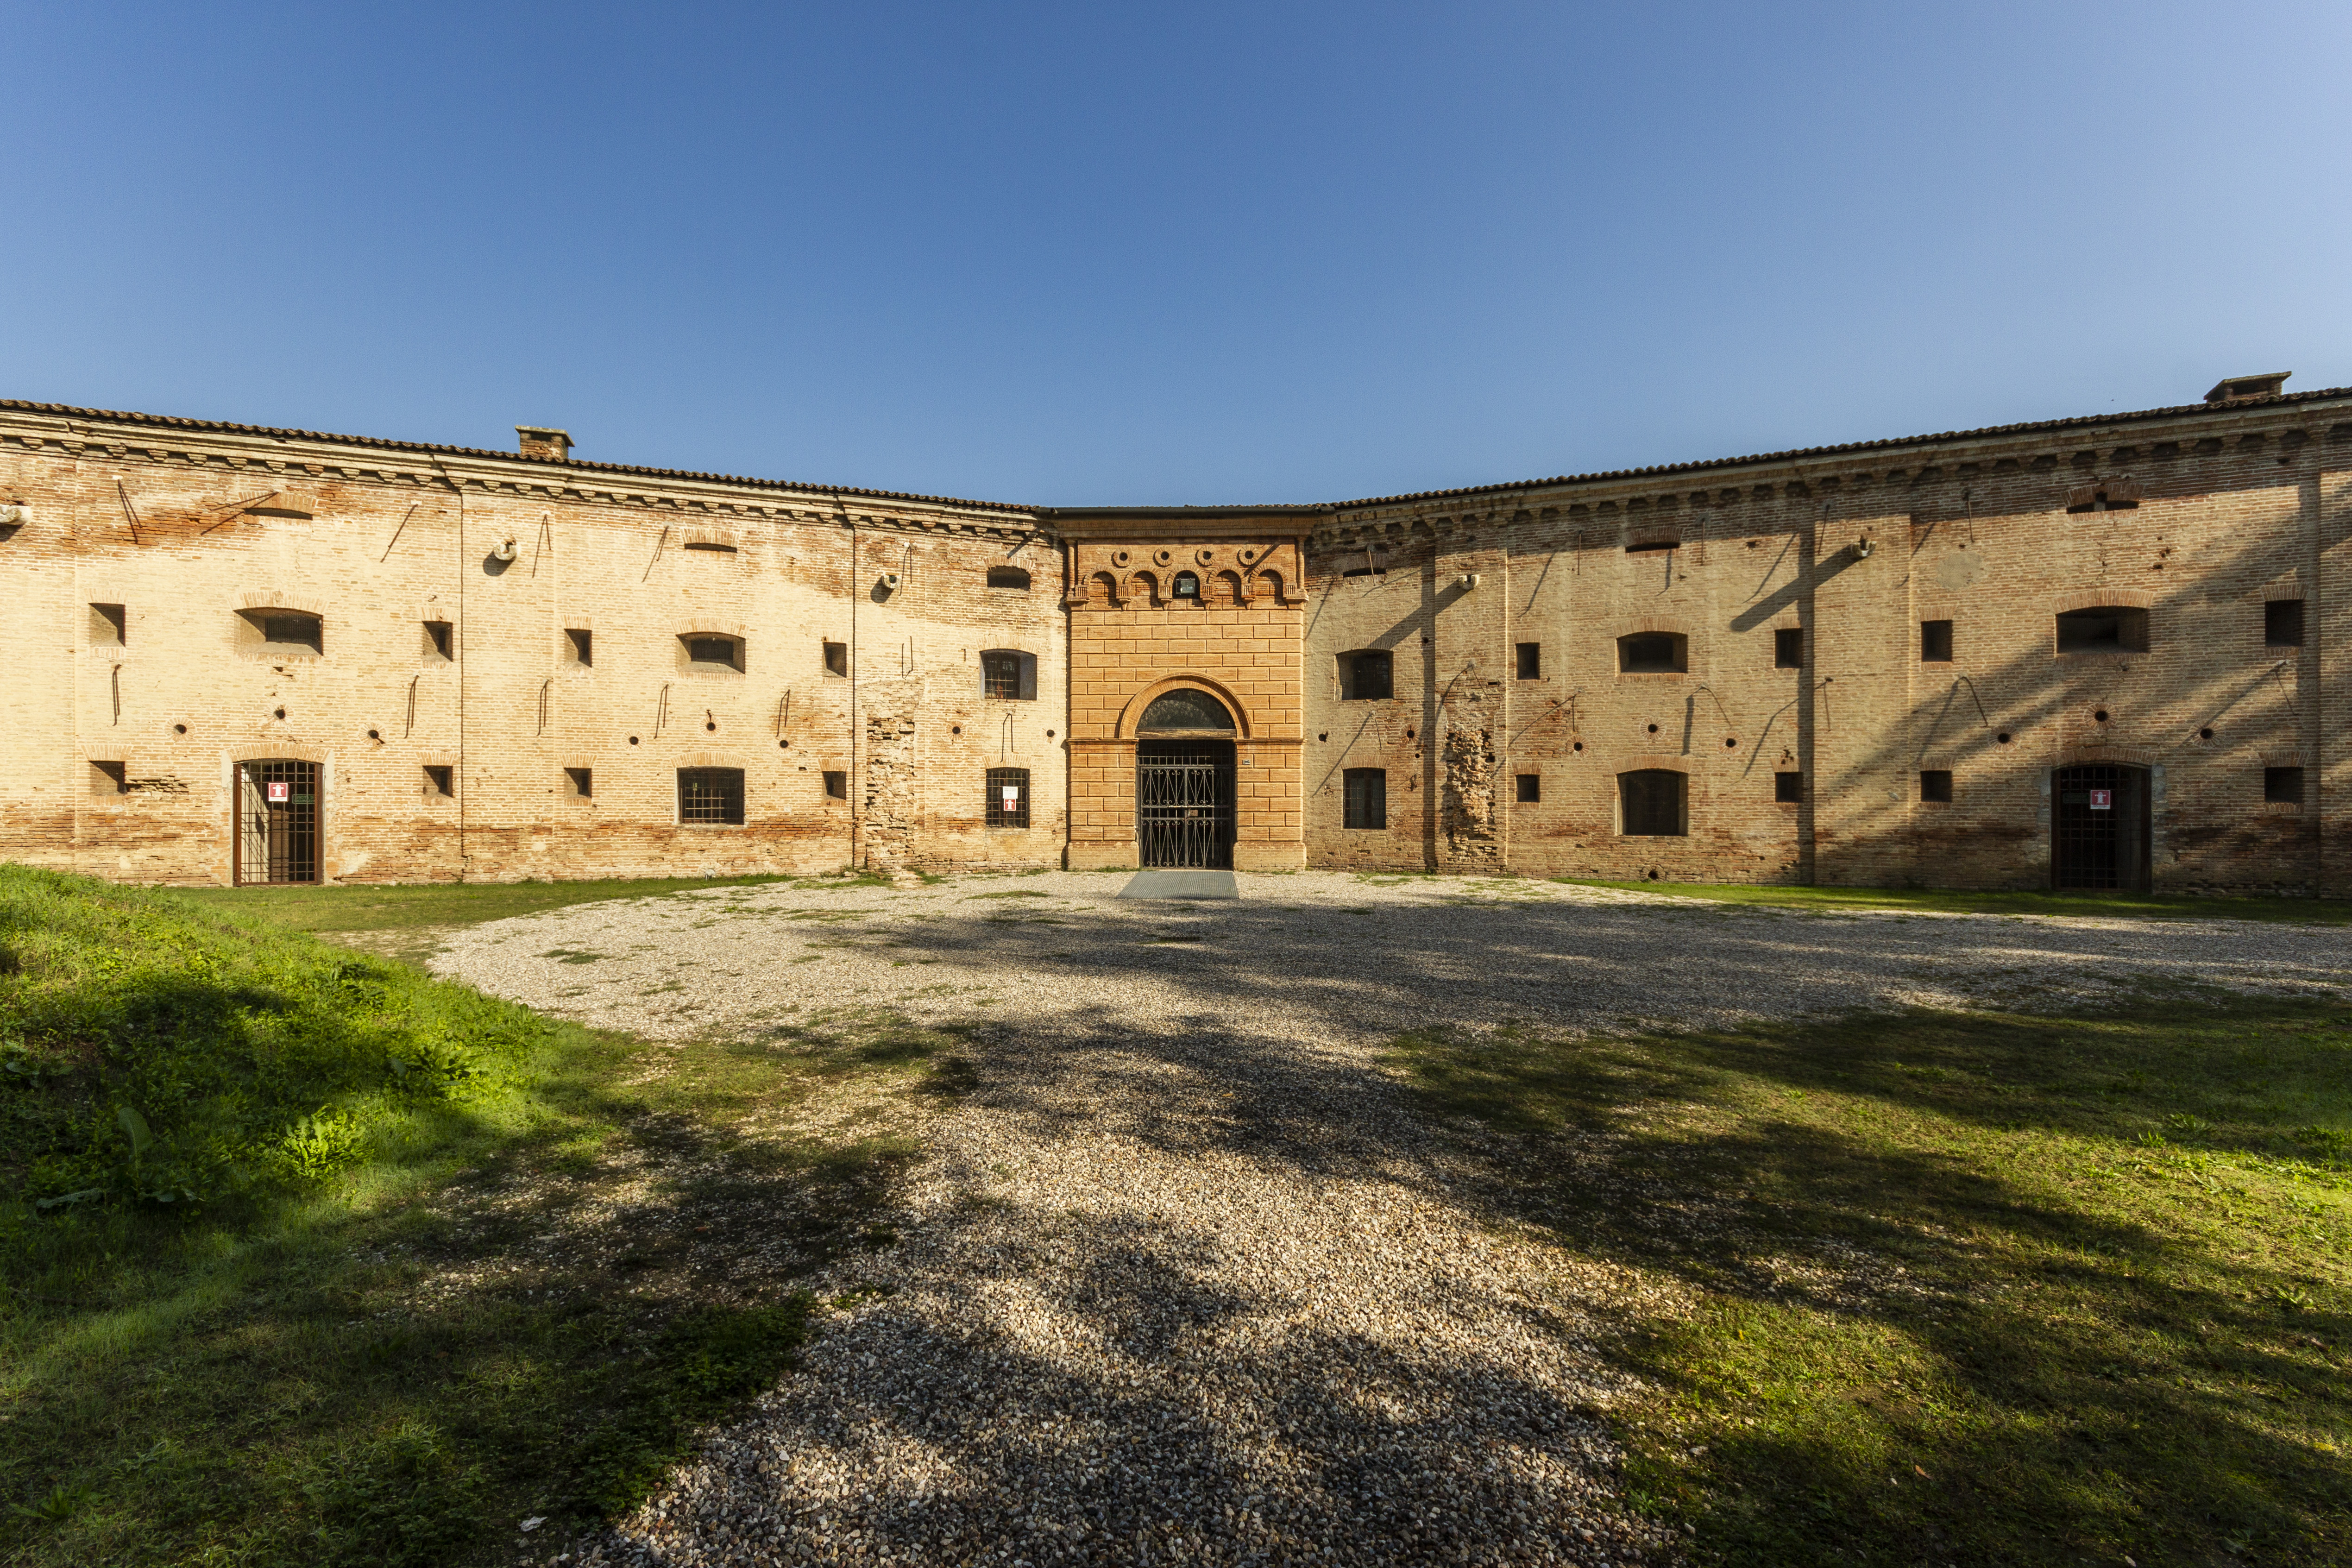
[[2352, 1013], [1423, 1034], [1557, 1244], [1679, 1281], [1616, 1354], [1708, 1563], [2352, 1561]]

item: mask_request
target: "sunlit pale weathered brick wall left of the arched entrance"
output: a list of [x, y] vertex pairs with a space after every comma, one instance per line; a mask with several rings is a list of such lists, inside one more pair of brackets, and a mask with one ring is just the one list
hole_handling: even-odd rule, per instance
[[[863, 851], [861, 790], [823, 788], [863, 769], [856, 691], [913, 726], [903, 853], [1058, 860], [1063, 614], [1025, 515], [28, 409], [0, 411], [0, 503], [31, 515], [0, 541], [7, 858], [226, 882], [235, 764], [299, 757], [329, 882], [830, 870]], [[1035, 585], [988, 588], [1007, 562]], [[120, 646], [92, 602], [127, 607]], [[266, 654], [252, 607], [318, 614], [322, 651]], [[743, 639], [743, 668], [696, 668], [691, 632]], [[983, 698], [981, 646], [1035, 654], [1037, 701]], [[981, 825], [1000, 757], [1040, 762], [1028, 830]], [[746, 823], [680, 825], [682, 766], [743, 769]]]

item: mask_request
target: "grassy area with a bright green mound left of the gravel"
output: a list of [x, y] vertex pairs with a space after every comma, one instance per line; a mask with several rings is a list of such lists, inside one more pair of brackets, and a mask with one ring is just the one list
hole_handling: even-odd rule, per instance
[[0, 867], [0, 1561], [555, 1549], [793, 1363], [809, 1269], [891, 1244], [960, 1044], [647, 1046]]

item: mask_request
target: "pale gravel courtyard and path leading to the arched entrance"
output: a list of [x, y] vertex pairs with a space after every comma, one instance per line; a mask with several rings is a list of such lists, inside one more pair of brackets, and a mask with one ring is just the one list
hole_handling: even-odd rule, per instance
[[1543, 882], [1122, 875], [731, 886], [452, 938], [435, 969], [691, 1048], [842, 1009], [969, 1025], [884, 1284], [576, 1561], [1646, 1563], [1592, 1349], [1665, 1286], [1482, 1220], [1399, 1032], [1578, 1032], [2333, 990], [2321, 929], [1811, 914]]

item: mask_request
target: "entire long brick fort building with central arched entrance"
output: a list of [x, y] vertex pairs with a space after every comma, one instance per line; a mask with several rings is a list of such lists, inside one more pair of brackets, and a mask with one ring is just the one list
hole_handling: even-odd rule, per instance
[[1310, 508], [0, 402], [0, 856], [2345, 893], [2352, 390]]

